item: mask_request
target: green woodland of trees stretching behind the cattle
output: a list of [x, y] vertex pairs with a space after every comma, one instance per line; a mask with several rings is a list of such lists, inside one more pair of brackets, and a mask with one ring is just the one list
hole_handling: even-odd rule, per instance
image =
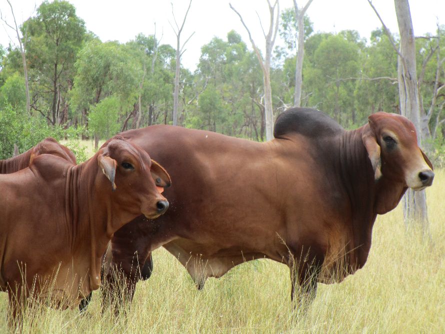
[[[43, 2], [18, 30], [30, 108], [20, 47], [3, 46], [0, 158], [12, 156], [14, 144], [21, 153], [48, 135], [68, 139], [78, 151], [78, 139], [97, 142], [119, 131], [172, 123], [176, 50], [160, 36], [102, 42], [65, 1]], [[286, 45], [274, 48], [270, 68], [275, 118], [293, 105], [296, 30], [293, 9], [282, 10], [279, 35]], [[397, 54], [383, 29], [367, 37], [353, 30], [314, 32], [305, 16], [304, 32], [303, 107], [319, 109], [347, 129], [363, 125], [373, 112], [400, 113]], [[439, 163], [445, 151], [444, 34], [438, 25], [436, 34], [416, 38], [421, 108], [429, 128], [425, 142]], [[398, 43], [397, 35], [392, 38]], [[194, 72], [180, 68], [178, 125], [263, 141], [263, 111], [260, 65], [236, 31], [202, 45]]]

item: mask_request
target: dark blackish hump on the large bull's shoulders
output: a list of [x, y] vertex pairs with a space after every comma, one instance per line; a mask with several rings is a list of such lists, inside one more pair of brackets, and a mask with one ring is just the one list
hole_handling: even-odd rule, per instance
[[275, 121], [273, 137], [298, 133], [307, 137], [335, 136], [343, 128], [332, 118], [316, 109], [290, 108]]

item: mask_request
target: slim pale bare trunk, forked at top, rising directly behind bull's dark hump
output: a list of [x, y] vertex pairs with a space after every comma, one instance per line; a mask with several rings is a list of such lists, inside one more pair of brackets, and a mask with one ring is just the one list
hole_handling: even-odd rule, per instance
[[303, 58], [304, 58], [304, 14], [309, 8], [313, 0], [308, 0], [301, 10], [298, 10], [296, 0], [293, 0], [293, 8], [295, 10], [295, 19], [298, 27], [298, 49], [296, 53], [295, 64], [295, 91], [293, 94], [293, 105], [301, 107], [301, 87], [303, 84]]

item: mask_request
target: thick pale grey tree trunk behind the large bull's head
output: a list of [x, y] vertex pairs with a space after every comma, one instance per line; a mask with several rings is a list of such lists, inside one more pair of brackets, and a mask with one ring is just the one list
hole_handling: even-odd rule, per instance
[[[422, 124], [415, 62], [415, 40], [408, 0], [394, 0], [400, 34], [398, 57], [398, 91], [401, 114], [414, 124], [419, 146], [422, 144]], [[406, 227], [413, 222], [429, 233], [425, 191], [408, 189], [403, 198], [403, 217]]]

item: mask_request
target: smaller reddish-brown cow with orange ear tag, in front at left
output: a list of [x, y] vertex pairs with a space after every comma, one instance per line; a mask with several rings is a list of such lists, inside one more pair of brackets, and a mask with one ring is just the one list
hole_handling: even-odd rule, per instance
[[80, 165], [42, 154], [0, 175], [0, 290], [13, 318], [29, 295], [66, 308], [99, 287], [112, 234], [168, 207], [152, 174], [170, 182], [146, 152], [115, 139]]

